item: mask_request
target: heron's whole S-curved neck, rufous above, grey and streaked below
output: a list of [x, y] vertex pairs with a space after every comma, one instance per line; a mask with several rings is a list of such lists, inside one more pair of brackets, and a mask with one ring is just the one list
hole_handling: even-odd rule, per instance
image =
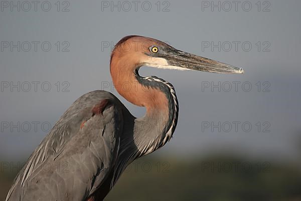
[[118, 67], [111, 63], [111, 75], [120, 95], [146, 108], [146, 114], [135, 119], [133, 134], [140, 155], [145, 155], [171, 139], [178, 120], [178, 100], [172, 84], [155, 76], [141, 77], [138, 68], [129, 68], [126, 63]]

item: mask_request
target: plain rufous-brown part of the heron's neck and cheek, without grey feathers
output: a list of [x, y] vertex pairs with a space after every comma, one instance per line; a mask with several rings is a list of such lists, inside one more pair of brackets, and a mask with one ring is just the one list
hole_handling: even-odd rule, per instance
[[128, 102], [146, 107], [148, 114], [157, 110], [168, 113], [168, 100], [164, 92], [158, 88], [144, 86], [137, 80], [135, 71], [142, 65], [145, 57], [147, 56], [138, 51], [123, 52], [115, 48], [110, 62], [114, 87]]

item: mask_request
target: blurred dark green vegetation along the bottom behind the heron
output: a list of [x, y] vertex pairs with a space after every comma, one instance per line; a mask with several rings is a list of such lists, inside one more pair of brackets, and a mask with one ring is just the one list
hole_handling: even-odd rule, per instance
[[[0, 200], [16, 174], [0, 171]], [[195, 160], [150, 155], [129, 165], [105, 200], [296, 201], [301, 200], [301, 171], [231, 156]]]

